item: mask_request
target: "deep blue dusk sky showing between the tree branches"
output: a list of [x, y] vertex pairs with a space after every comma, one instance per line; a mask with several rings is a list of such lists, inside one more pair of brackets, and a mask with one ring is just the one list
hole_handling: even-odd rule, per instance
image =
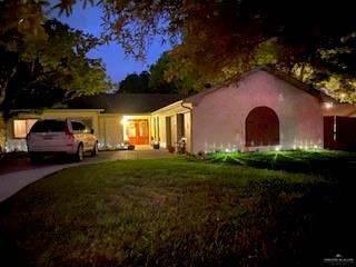
[[[73, 7], [73, 12], [70, 17], [67, 17], [65, 12], [59, 17], [57, 10], [52, 12], [52, 16], [71, 28], [89, 32], [93, 36], [99, 37], [101, 32], [101, 10], [99, 7], [88, 6], [86, 9], [82, 9], [82, 2], [79, 2]], [[148, 50], [147, 62], [140, 62], [130, 56], [126, 56], [123, 49], [113, 42], [90, 51], [88, 56], [90, 58], [101, 58], [107, 67], [108, 76], [112, 81], [118, 82], [125, 79], [128, 73], [139, 73], [142, 70], [147, 70], [169, 48], [168, 43], [161, 44], [160, 39], [157, 38]]]

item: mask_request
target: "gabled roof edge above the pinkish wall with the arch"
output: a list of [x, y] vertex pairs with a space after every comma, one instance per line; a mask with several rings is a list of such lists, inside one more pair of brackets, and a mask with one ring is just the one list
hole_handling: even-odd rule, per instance
[[286, 75], [285, 72], [280, 71], [280, 70], [276, 70], [276, 69], [271, 69], [271, 68], [268, 68], [268, 67], [258, 67], [258, 68], [255, 68], [248, 72], [245, 72], [243, 75], [237, 75], [237, 76], [234, 76], [233, 78], [230, 78], [229, 80], [227, 80], [226, 82], [224, 82], [222, 85], [220, 86], [217, 86], [217, 87], [214, 87], [214, 88], [210, 88], [210, 89], [207, 89], [207, 90], [204, 90], [197, 95], [194, 95], [191, 97], [188, 97], [187, 99], [185, 99], [186, 102], [199, 102], [199, 100], [205, 96], [205, 95], [208, 95], [208, 93], [211, 93], [216, 90], [219, 90], [221, 88], [225, 88], [227, 87], [228, 85], [231, 85], [234, 82], [238, 82], [238, 81], [241, 81], [244, 79], [246, 79], [247, 77], [258, 72], [258, 71], [265, 71], [298, 89], [301, 89], [310, 95], [314, 95], [314, 96], [318, 96], [323, 99], [327, 99], [327, 100], [334, 100], [330, 96], [327, 96], [325, 92], [320, 91], [320, 90], [317, 90], [316, 88], [300, 81], [300, 80], [297, 80], [295, 79], [294, 77], [291, 76], [288, 76]]

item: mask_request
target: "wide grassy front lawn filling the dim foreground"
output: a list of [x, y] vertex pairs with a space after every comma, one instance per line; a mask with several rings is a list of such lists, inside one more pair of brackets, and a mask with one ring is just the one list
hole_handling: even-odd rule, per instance
[[342, 253], [342, 202], [319, 176], [182, 158], [80, 166], [0, 205], [0, 256], [11, 266], [316, 266]]

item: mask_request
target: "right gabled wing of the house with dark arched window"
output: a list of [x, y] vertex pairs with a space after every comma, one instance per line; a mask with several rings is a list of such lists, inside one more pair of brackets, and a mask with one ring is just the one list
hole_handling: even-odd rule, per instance
[[[160, 135], [168, 145], [186, 137], [192, 154], [345, 149], [356, 145], [355, 127], [347, 131], [348, 140], [340, 141], [353, 125], [350, 120], [356, 121], [350, 118], [356, 117], [355, 105], [339, 103], [325, 92], [266, 67], [156, 110], [152, 117], [166, 122]], [[348, 118], [343, 132], [336, 130], [336, 117]], [[332, 129], [325, 127], [330, 125], [328, 118], [333, 118]]]

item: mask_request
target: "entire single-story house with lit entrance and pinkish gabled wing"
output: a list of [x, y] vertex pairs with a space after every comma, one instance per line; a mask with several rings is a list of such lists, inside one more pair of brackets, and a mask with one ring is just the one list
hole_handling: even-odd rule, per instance
[[7, 150], [26, 149], [23, 138], [37, 119], [65, 117], [93, 128], [100, 148], [125, 140], [147, 148], [152, 141], [170, 148], [184, 140], [192, 154], [356, 146], [355, 105], [339, 103], [265, 67], [182, 100], [171, 95], [99, 95], [80, 98], [68, 109], [16, 112], [7, 121]]

